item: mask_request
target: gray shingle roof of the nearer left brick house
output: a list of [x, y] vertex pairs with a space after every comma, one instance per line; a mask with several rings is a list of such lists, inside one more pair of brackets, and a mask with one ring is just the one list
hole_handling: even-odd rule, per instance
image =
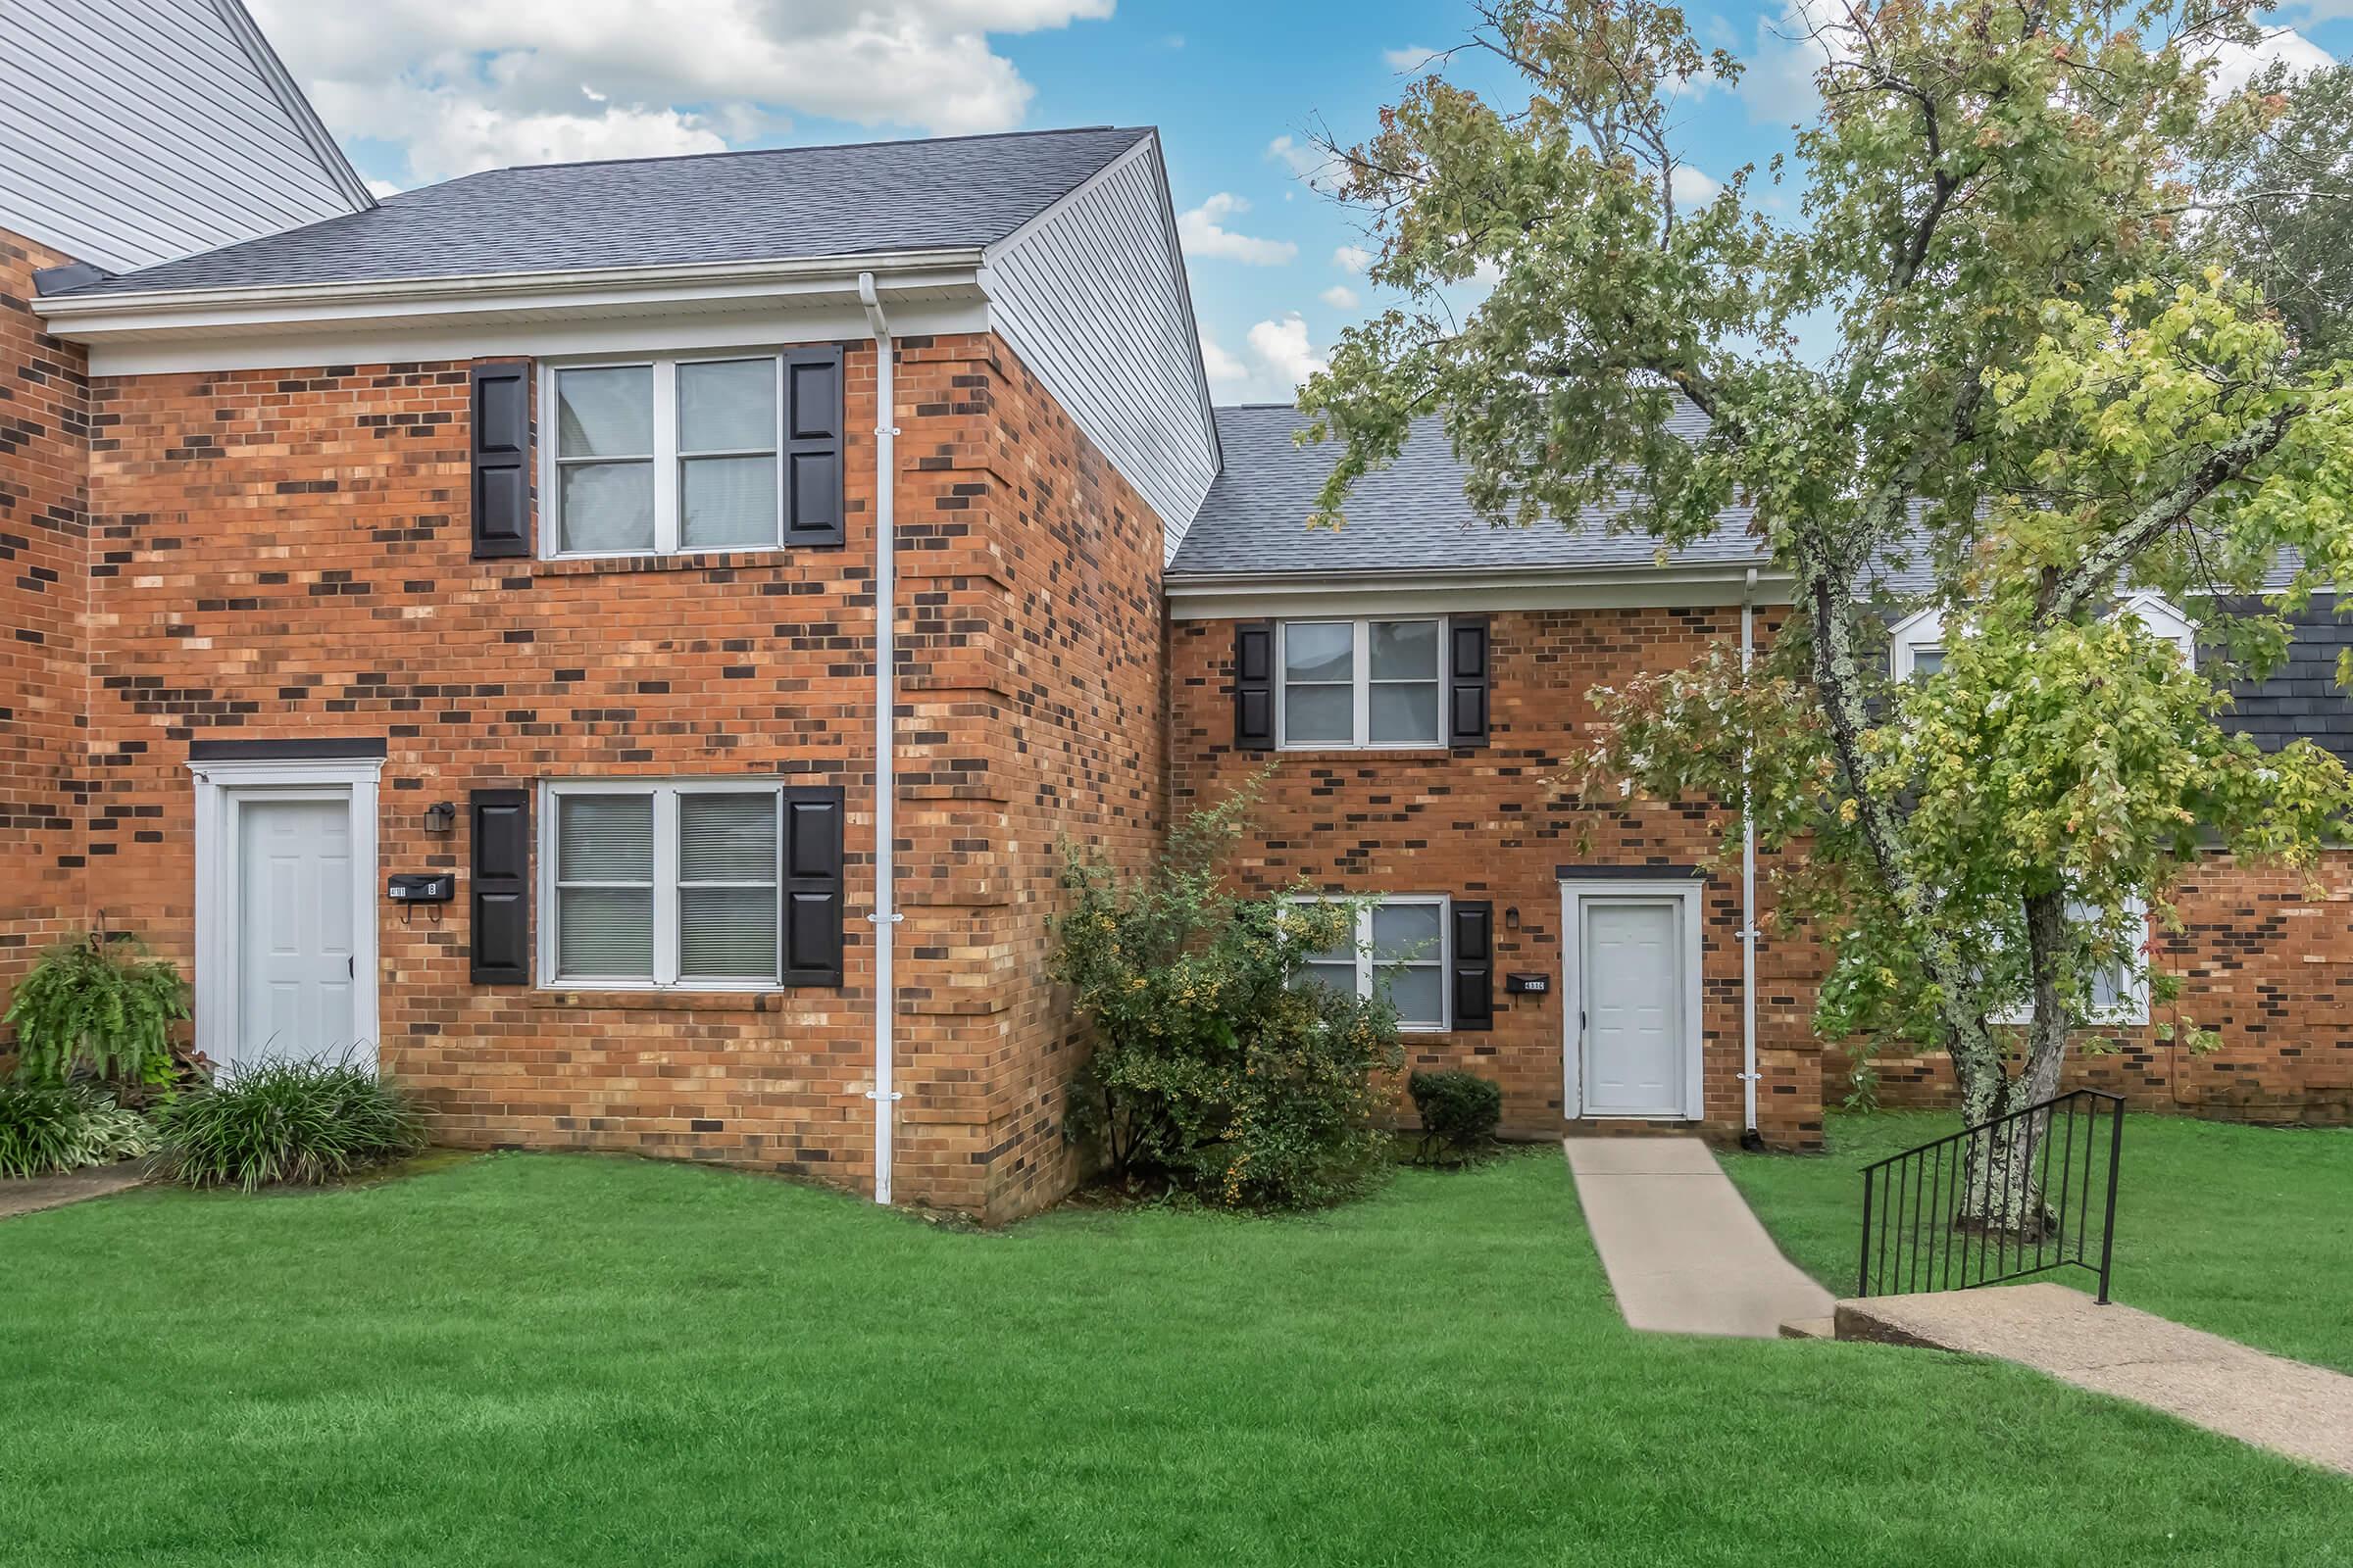
[[73, 294], [981, 247], [1144, 136], [1089, 127], [492, 169]]

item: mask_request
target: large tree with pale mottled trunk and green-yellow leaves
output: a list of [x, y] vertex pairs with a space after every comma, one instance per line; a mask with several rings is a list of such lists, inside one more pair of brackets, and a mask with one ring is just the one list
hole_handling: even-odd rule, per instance
[[[1508, 103], [1438, 71], [1329, 146], [1405, 306], [1301, 390], [1339, 442], [1320, 522], [1421, 414], [1497, 524], [1600, 512], [1675, 545], [1746, 503], [1793, 597], [1769, 656], [1600, 693], [1598, 780], [1748, 788], [1835, 954], [1821, 1027], [1941, 1041], [1972, 1121], [2047, 1098], [2191, 856], [2311, 863], [2348, 809], [2327, 752], [2217, 722], [2282, 611], [2353, 569], [2344, 371], [2214, 221], [2242, 193], [2209, 172], [2285, 110], [2209, 92], [2247, 7], [1831, 0], [1795, 158], [1697, 205], [1678, 101], [1741, 61], [1647, 0], [1473, 9]], [[2184, 663], [2129, 590], [2212, 651]], [[1892, 686], [1915, 609], [1944, 670]], [[2026, 1011], [2024, 1039], [1995, 1023]], [[2035, 1222], [2031, 1194], [1981, 1201]]]

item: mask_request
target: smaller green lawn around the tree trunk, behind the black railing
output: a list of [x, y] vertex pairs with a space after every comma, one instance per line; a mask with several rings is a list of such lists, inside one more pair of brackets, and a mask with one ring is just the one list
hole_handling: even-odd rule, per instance
[[[1831, 1117], [1826, 1157], [1720, 1159], [1781, 1251], [1852, 1295], [1861, 1166], [1958, 1128], [1941, 1112]], [[2353, 1131], [2125, 1117], [2113, 1279], [2115, 1300], [2353, 1373]]]

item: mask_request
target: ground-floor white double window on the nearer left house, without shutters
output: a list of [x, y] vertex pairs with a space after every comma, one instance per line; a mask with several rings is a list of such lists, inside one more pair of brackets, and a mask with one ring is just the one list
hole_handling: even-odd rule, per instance
[[781, 983], [781, 790], [548, 785], [541, 973], [602, 990]]

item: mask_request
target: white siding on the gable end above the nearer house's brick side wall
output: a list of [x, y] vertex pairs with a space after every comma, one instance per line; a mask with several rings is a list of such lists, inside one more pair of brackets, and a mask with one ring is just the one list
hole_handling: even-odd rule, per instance
[[988, 259], [998, 331], [1160, 515], [1176, 552], [1217, 477], [1200, 343], [1153, 141]]

